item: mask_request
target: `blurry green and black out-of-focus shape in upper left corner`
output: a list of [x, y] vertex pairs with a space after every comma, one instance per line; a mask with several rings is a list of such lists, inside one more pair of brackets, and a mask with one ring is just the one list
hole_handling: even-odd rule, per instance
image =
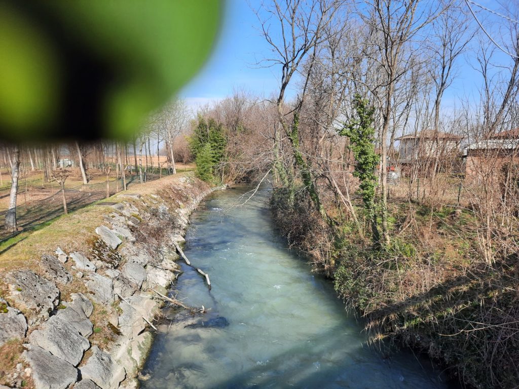
[[1, 2], [0, 137], [133, 137], [209, 57], [222, 3]]

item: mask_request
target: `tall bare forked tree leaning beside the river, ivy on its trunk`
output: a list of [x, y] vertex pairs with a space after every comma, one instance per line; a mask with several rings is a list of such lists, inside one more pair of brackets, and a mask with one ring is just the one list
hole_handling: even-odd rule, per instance
[[[301, 173], [305, 188], [316, 209], [323, 216], [325, 216], [325, 211], [319, 199], [315, 177], [311, 172], [309, 162], [301, 152], [298, 121], [306, 98], [309, 75], [318, 47], [322, 43], [323, 29], [330, 23], [334, 13], [343, 3], [344, 1], [340, 0], [312, 0], [308, 3], [294, 0], [285, 0], [284, 2], [275, 0], [272, 6], [263, 5], [256, 12], [261, 22], [262, 35], [276, 54], [275, 58], [265, 59], [264, 61], [271, 66], [281, 65], [280, 88], [276, 98], [278, 121], [283, 130], [283, 135], [290, 142], [294, 163]], [[275, 20], [278, 24], [281, 31], [279, 38], [270, 32], [270, 20]], [[302, 70], [302, 65], [307, 58], [309, 64], [306, 67], [306, 75], [303, 76], [303, 89], [298, 96], [295, 107], [288, 110], [285, 104], [286, 88], [290, 85], [294, 75]], [[289, 183], [289, 172], [280, 162], [281, 135], [276, 126], [274, 171], [282, 185], [290, 186], [292, 183]]]

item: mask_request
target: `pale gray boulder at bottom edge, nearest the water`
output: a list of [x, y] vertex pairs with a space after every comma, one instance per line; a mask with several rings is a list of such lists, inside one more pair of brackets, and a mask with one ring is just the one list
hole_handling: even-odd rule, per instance
[[116, 364], [110, 354], [98, 346], [92, 347], [92, 355], [80, 370], [84, 380], [91, 380], [102, 389], [117, 389], [126, 377], [125, 369]]

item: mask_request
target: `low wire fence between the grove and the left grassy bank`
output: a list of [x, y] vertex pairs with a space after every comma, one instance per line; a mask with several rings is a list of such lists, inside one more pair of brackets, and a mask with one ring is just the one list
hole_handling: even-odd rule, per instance
[[[146, 173], [143, 175], [147, 181], [153, 181], [160, 177], [159, 174]], [[126, 177], [126, 187], [140, 183], [139, 175]], [[110, 196], [122, 190], [122, 178], [108, 180]], [[50, 192], [47, 196], [46, 191]], [[4, 195], [5, 196], [5, 195]], [[8, 194], [7, 194], [8, 196]], [[0, 212], [0, 242], [5, 241], [19, 234], [23, 230], [30, 230], [46, 221], [49, 221], [63, 214], [63, 195], [61, 189], [46, 189], [38, 191], [37, 199], [28, 199], [28, 192], [23, 188], [18, 191], [19, 204], [16, 207], [16, 217], [20, 231], [7, 232], [4, 226], [7, 210]], [[46, 196], [41, 198], [42, 196]], [[34, 197], [34, 195], [32, 195]], [[73, 188], [65, 189], [67, 210], [76, 211], [95, 201], [106, 198], [106, 180], [96, 184], [78, 185]]]

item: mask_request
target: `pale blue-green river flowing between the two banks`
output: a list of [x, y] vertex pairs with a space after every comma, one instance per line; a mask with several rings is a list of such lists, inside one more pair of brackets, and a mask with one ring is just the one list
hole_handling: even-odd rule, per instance
[[365, 344], [331, 282], [278, 236], [268, 189], [221, 212], [244, 192], [216, 192], [193, 214], [184, 252], [209, 273], [212, 290], [183, 266], [172, 293], [209, 312], [188, 325], [165, 311], [173, 324], [160, 327], [144, 388], [447, 388], [427, 360], [383, 358]]

